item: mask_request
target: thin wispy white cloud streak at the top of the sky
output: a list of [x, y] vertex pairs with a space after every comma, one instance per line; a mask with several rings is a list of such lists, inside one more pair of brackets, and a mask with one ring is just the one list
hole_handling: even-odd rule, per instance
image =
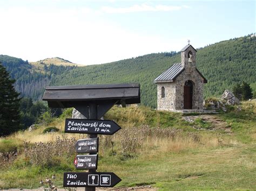
[[133, 5], [126, 8], [114, 8], [112, 6], [104, 6], [101, 8], [106, 13], [130, 13], [130, 12], [157, 12], [157, 11], [177, 11], [181, 9], [189, 8], [187, 5], [184, 6], [170, 6], [170, 5]]

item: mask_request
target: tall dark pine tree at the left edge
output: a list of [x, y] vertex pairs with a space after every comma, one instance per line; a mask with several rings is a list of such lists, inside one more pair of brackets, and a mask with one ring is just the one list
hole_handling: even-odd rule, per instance
[[19, 114], [19, 93], [15, 91], [15, 80], [0, 63], [0, 136], [9, 135], [21, 129]]

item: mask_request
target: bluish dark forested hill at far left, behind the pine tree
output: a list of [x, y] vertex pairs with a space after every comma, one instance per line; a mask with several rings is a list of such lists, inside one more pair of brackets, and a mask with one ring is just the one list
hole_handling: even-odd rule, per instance
[[56, 66], [54, 64], [33, 63], [28, 60], [0, 55], [0, 62], [8, 70], [12, 79], [15, 79], [15, 89], [22, 97], [31, 97], [41, 100], [45, 86], [50, 84], [52, 77], [60, 75], [76, 66]]

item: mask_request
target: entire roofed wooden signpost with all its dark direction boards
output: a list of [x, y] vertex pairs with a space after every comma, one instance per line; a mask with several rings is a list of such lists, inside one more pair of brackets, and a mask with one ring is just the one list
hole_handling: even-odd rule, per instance
[[87, 133], [89, 139], [80, 139], [75, 145], [77, 155], [74, 164], [77, 169], [89, 172], [64, 173], [64, 187], [85, 187], [95, 191], [96, 187], [113, 187], [121, 179], [112, 172], [96, 172], [98, 165], [98, 143], [100, 135], [113, 135], [120, 126], [113, 121], [98, 120], [114, 104], [140, 103], [139, 84], [105, 84], [86, 86], [46, 87], [43, 101], [50, 108], [76, 108], [87, 119], [66, 119], [66, 133]]

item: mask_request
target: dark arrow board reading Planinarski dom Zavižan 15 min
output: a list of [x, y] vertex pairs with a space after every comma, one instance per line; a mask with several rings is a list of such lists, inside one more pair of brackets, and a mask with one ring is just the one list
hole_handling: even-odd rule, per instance
[[113, 135], [119, 129], [118, 124], [109, 120], [66, 119], [65, 122], [65, 133]]

